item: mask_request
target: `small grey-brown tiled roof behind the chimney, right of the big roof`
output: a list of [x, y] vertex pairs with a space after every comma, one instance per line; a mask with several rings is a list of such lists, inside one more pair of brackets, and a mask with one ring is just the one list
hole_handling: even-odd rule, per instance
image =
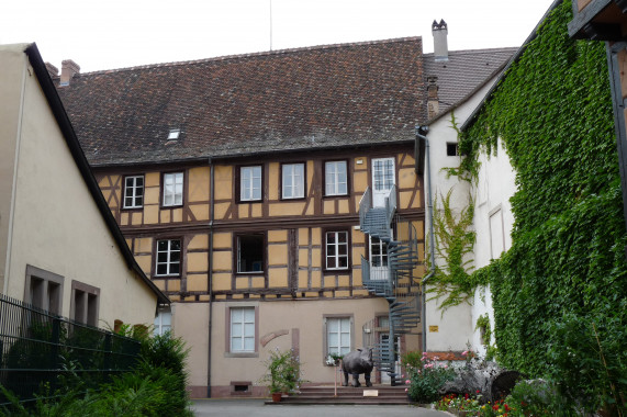
[[434, 54], [425, 54], [425, 77], [436, 76], [439, 113], [447, 112], [466, 99], [477, 87], [496, 76], [514, 56], [517, 47], [452, 50], [448, 61], [435, 61]]

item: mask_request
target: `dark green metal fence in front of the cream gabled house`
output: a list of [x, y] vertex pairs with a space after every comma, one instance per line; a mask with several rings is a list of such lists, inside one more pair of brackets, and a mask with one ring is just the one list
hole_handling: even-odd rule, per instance
[[[68, 381], [97, 387], [132, 370], [139, 342], [0, 294], [0, 384], [20, 402], [54, 396]], [[0, 393], [0, 405], [9, 401]]]

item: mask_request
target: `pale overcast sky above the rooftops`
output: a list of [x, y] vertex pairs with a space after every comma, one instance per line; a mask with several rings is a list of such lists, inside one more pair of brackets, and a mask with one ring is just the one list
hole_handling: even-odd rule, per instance
[[44, 60], [60, 69], [63, 59], [74, 59], [81, 72], [88, 72], [403, 36], [423, 36], [424, 52], [428, 53], [433, 52], [430, 24], [434, 19], [444, 19], [448, 23], [449, 49], [475, 49], [519, 46], [551, 3], [14, 0], [0, 8], [0, 44], [36, 42]]

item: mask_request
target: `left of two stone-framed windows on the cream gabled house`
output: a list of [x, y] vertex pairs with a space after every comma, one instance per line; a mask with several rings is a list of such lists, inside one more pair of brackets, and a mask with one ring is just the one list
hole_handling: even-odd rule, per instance
[[46, 270], [26, 266], [24, 302], [60, 315], [64, 278]]

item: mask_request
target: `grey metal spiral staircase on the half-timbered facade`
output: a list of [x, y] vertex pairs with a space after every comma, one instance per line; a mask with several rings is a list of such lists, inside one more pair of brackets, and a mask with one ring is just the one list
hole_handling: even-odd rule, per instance
[[[421, 320], [419, 285], [414, 281], [418, 264], [417, 234], [413, 224], [396, 214], [396, 188], [392, 187], [383, 207], [373, 207], [372, 191], [366, 190], [359, 203], [361, 232], [387, 244], [388, 271], [377, 274], [370, 262], [361, 257], [363, 286], [389, 303], [389, 337], [384, 342], [372, 340], [373, 359], [381, 372], [390, 375], [391, 384], [400, 382], [396, 375], [394, 341], [402, 334], [416, 330]], [[369, 331], [371, 334], [371, 331]]]

